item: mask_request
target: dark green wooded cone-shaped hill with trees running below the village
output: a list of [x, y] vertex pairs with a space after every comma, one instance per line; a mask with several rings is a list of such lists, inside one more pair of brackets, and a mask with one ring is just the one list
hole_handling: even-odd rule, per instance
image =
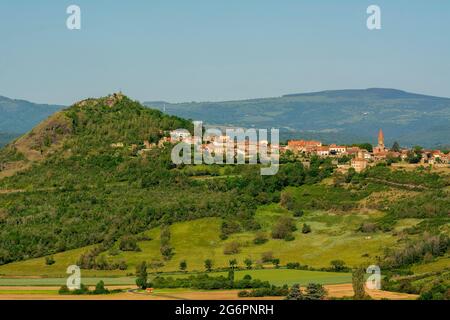
[[191, 179], [172, 164], [171, 145], [140, 152], [144, 140], [176, 128], [192, 124], [113, 95], [77, 103], [2, 149], [4, 171], [20, 170], [0, 180], [0, 263], [107, 248], [151, 226], [205, 216], [239, 218], [251, 229], [258, 204], [331, 172], [316, 161], [310, 170], [289, 164], [274, 177], [244, 166], [227, 179]]

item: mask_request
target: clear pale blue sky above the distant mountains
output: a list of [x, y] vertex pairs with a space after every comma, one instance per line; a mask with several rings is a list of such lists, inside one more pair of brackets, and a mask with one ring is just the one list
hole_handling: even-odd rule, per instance
[[[66, 8], [82, 30], [66, 29]], [[380, 31], [366, 8], [382, 9]], [[0, 95], [204, 101], [389, 87], [450, 97], [448, 0], [2, 0]]]

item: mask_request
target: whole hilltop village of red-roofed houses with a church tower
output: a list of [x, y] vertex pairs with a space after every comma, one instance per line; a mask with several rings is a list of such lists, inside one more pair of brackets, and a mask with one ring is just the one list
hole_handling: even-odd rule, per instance
[[[392, 148], [388, 148], [384, 142], [384, 133], [380, 129], [378, 133], [378, 144], [372, 147], [370, 144], [360, 145], [325, 145], [321, 141], [316, 140], [289, 140], [286, 145], [272, 146], [269, 141], [262, 140], [259, 142], [246, 139], [243, 145], [234, 142], [227, 135], [220, 136], [191, 136], [189, 131], [185, 129], [177, 129], [166, 132], [165, 136], [158, 143], [143, 142], [143, 148], [137, 151], [139, 155], [145, 154], [153, 148], [161, 148], [164, 144], [187, 143], [197, 145], [202, 152], [214, 156], [216, 154], [225, 154], [226, 148], [231, 142], [234, 146], [235, 155], [243, 155], [249, 159], [251, 154], [249, 151], [256, 150], [253, 154], [258, 154], [261, 148], [265, 150], [270, 148], [278, 149], [281, 156], [295, 156], [304, 165], [309, 164], [309, 160], [313, 156], [322, 158], [333, 158], [333, 163], [341, 172], [346, 172], [353, 168], [356, 172], [374, 166], [378, 163], [388, 163], [395, 165], [398, 163], [408, 164], [410, 166], [435, 166], [447, 167], [450, 164], [450, 153], [441, 150], [429, 150], [421, 147], [401, 148], [398, 143], [394, 143]], [[112, 147], [124, 147], [122, 143], [111, 145]], [[135, 148], [138, 146], [135, 145]], [[269, 148], [270, 147], [270, 148]], [[252, 149], [254, 148], [254, 149]]]

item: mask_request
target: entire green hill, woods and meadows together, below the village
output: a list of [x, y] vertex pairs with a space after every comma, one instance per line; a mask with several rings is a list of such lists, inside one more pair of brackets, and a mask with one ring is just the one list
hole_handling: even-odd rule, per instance
[[340, 174], [318, 157], [261, 176], [259, 166], [176, 166], [170, 144], [144, 150], [180, 127], [192, 123], [119, 94], [79, 102], [1, 149], [0, 171], [26, 166], [0, 180], [0, 275], [63, 277], [78, 264], [85, 276], [126, 276], [143, 262], [176, 277], [230, 266], [272, 278], [369, 264], [442, 271], [449, 176]]

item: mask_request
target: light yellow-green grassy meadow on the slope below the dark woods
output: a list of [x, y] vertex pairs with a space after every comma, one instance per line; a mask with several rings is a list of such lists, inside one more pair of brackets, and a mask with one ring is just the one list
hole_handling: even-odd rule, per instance
[[[277, 204], [262, 206], [256, 214], [257, 221], [262, 229], [270, 234], [273, 223], [282, 215], [291, 213]], [[361, 263], [371, 263], [377, 255], [382, 254], [387, 246], [395, 245], [397, 238], [391, 233], [377, 232], [367, 234], [356, 232], [362, 221], [379, 212], [352, 212], [349, 214], [329, 213], [322, 211], [307, 212], [303, 217], [296, 218], [298, 231], [294, 232], [295, 240], [284, 241], [270, 239], [262, 245], [255, 245], [253, 239], [255, 234], [242, 232], [233, 234], [227, 240], [221, 240], [220, 218], [204, 218], [194, 221], [175, 223], [170, 227], [171, 245], [174, 247], [175, 255], [169, 261], [164, 261], [164, 266], [151, 272], [174, 272], [178, 271], [179, 262], [186, 260], [188, 271], [204, 271], [204, 260], [212, 259], [214, 267], [228, 267], [231, 259], [237, 259], [238, 265], [243, 267], [246, 258], [255, 263], [261, 259], [261, 254], [271, 251], [275, 258], [279, 258], [281, 265], [288, 262], [300, 262], [315, 268], [329, 267], [334, 259], [342, 259], [349, 266]], [[311, 225], [312, 233], [302, 234], [302, 224], [306, 222]], [[152, 240], [139, 242], [140, 252], [122, 252], [116, 256], [106, 257], [110, 261], [125, 260], [128, 269], [121, 270], [83, 270], [82, 274], [88, 277], [104, 276], [126, 276], [134, 273], [135, 266], [141, 261], [160, 260], [163, 257], [159, 251], [160, 229], [149, 230], [145, 234]], [[241, 251], [235, 255], [225, 255], [223, 249], [226, 243], [237, 241], [241, 244]], [[116, 244], [118, 246], [118, 244]], [[51, 266], [45, 264], [44, 258], [30, 259], [21, 262], [10, 263], [0, 266], [2, 276], [44, 276], [65, 277], [66, 268], [75, 264], [78, 257], [89, 250], [90, 247], [70, 250], [54, 255], [56, 263]], [[266, 265], [266, 267], [272, 267]]]

